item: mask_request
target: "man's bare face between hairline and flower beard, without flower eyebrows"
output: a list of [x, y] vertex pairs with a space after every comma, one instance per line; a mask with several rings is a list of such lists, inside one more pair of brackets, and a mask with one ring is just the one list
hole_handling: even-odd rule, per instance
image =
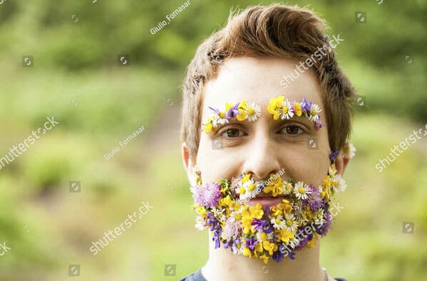
[[[202, 122], [212, 116], [209, 107], [223, 109], [226, 102], [234, 105], [242, 100], [259, 105], [261, 115], [255, 122], [235, 120], [208, 134], [201, 132], [195, 164], [204, 182], [237, 178], [241, 171], [262, 180], [284, 169], [284, 179], [321, 184], [329, 169], [330, 150], [317, 78], [306, 70], [287, 88], [279, 84], [282, 75], [297, 71], [297, 63], [279, 58], [233, 58], [221, 65], [215, 80], [206, 83]], [[319, 105], [326, 127], [316, 130], [307, 117], [274, 120], [267, 105], [279, 95], [290, 102], [305, 97]]]

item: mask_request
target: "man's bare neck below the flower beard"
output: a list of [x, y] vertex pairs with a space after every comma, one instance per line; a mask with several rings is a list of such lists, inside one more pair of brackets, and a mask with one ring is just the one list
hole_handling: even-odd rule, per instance
[[207, 281], [324, 281], [324, 271], [319, 266], [319, 240], [314, 248], [297, 252], [295, 260], [284, 257], [276, 263], [270, 259], [265, 265], [257, 258], [235, 255], [230, 249], [215, 249], [212, 235], [209, 238], [209, 258], [202, 267]]

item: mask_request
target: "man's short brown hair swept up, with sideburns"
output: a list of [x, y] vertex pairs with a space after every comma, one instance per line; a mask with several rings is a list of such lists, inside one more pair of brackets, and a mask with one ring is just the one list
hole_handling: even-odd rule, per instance
[[[295, 58], [306, 60], [318, 47], [329, 46], [326, 23], [298, 6], [252, 6], [232, 15], [227, 26], [197, 48], [182, 85], [181, 140], [195, 159], [200, 142], [202, 91], [227, 58]], [[312, 66], [324, 94], [331, 151], [342, 149], [351, 133], [354, 89], [339, 68], [334, 51]]]

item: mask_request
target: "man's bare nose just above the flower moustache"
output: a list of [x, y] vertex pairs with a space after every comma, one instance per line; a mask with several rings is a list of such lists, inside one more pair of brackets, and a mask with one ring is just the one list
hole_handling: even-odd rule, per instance
[[270, 174], [276, 174], [282, 169], [274, 143], [264, 134], [252, 139], [245, 159], [243, 171], [251, 173], [254, 181], [267, 179]]

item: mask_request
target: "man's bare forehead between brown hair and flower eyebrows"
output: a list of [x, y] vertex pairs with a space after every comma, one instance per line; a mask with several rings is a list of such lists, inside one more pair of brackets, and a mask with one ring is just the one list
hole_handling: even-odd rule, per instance
[[[323, 107], [321, 90], [314, 74], [300, 67], [299, 61], [284, 58], [232, 58], [220, 66], [217, 78], [207, 81], [204, 90], [203, 112], [206, 117], [212, 112], [208, 107], [223, 109], [225, 102], [255, 102], [261, 107], [269, 100], [284, 95], [289, 101], [312, 100]], [[293, 77], [292, 78], [292, 74]], [[280, 80], [289, 75], [292, 82], [284, 88]], [[289, 79], [288, 79], [289, 81]]]

